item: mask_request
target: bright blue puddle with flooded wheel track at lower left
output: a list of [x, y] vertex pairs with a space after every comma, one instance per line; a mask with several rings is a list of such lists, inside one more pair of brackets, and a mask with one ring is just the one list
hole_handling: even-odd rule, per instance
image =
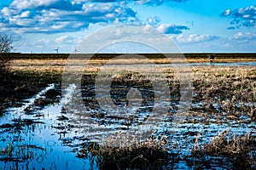
[[[96, 169], [96, 157], [78, 159], [73, 148], [63, 142], [65, 134], [54, 127], [61, 116], [61, 103], [46, 105], [27, 114], [34, 104], [50, 89], [26, 99], [21, 107], [9, 108], [0, 117], [0, 167], [3, 169]], [[93, 161], [95, 160], [95, 161]]]

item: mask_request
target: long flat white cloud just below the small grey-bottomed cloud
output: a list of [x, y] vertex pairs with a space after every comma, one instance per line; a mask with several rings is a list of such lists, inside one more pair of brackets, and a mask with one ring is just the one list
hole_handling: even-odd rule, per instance
[[189, 36], [178, 35], [175, 40], [177, 42], [210, 42], [213, 40], [217, 40], [218, 36], [211, 36], [211, 35], [199, 35], [199, 34], [191, 34]]

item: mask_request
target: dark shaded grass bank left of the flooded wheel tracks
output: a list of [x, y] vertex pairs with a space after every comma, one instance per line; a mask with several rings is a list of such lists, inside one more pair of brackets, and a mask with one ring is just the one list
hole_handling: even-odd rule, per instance
[[49, 83], [60, 83], [61, 72], [11, 70], [0, 82], [0, 113], [20, 99], [32, 97]]

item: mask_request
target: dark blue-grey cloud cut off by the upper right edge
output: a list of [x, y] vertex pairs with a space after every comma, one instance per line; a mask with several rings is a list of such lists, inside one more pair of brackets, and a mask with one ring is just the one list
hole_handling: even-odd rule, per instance
[[255, 6], [236, 8], [234, 10], [226, 9], [221, 15], [233, 19], [230, 21], [231, 28], [240, 28], [241, 26], [256, 28]]

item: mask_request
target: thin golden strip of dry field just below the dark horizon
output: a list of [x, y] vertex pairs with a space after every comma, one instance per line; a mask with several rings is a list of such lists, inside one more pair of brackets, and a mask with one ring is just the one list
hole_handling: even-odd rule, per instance
[[[123, 65], [139, 65], [139, 64], [175, 64], [175, 63], [208, 63], [209, 59], [119, 59], [115, 60], [117, 64]], [[31, 71], [63, 71], [63, 68], [68, 63], [73, 65], [86, 65], [85, 59], [73, 59], [73, 61], [67, 59], [12, 59], [12, 70], [31, 70]], [[91, 59], [90, 65], [105, 65], [109, 59]], [[235, 63], [235, 62], [256, 62], [256, 58], [252, 59], [214, 59], [214, 63]]]

